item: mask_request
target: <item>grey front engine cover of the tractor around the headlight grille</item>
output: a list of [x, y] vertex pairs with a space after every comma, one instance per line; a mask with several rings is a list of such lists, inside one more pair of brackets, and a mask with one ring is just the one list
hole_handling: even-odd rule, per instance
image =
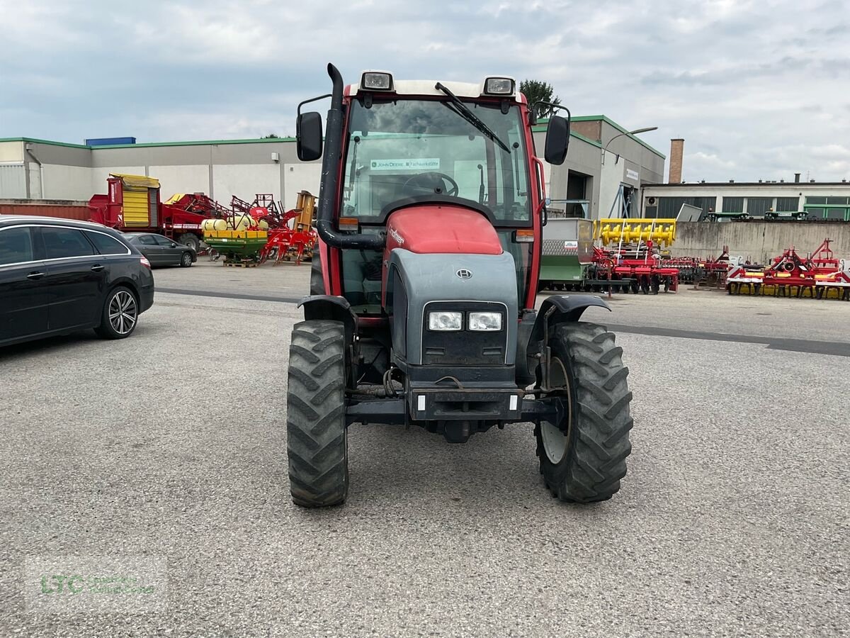
[[[467, 271], [471, 276], [462, 278], [458, 271]], [[394, 272], [399, 274], [407, 297], [406, 362], [413, 365], [422, 363], [422, 318], [428, 302], [490, 301], [506, 306], [504, 363], [513, 365], [517, 351], [519, 302], [516, 268], [510, 253], [419, 254], [395, 248], [389, 255], [388, 293], [391, 293]]]

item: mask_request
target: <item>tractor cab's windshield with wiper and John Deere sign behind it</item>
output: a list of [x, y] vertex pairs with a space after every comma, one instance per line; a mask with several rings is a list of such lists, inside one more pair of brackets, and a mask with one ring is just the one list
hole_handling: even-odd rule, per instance
[[343, 182], [344, 217], [379, 219], [409, 197], [457, 197], [490, 210], [497, 225], [530, 224], [529, 179], [519, 108], [464, 104], [507, 150], [449, 100], [351, 105]]

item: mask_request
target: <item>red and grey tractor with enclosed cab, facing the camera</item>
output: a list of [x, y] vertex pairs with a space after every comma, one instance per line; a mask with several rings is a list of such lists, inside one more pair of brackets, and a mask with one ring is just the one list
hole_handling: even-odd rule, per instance
[[[581, 322], [594, 296], [536, 310], [543, 164], [510, 77], [333, 83], [324, 140], [298, 105], [298, 157], [323, 157], [310, 295], [292, 330], [287, 452], [292, 500], [341, 504], [348, 426], [418, 425], [462, 443], [535, 424], [553, 496], [610, 498], [631, 452], [632, 393], [615, 336]], [[548, 123], [561, 164], [570, 112]], [[323, 148], [324, 146], [324, 148]]]

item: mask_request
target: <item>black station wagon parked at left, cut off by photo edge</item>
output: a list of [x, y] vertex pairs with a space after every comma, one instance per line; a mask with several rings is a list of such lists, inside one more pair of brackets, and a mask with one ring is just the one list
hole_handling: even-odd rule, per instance
[[121, 233], [0, 215], [0, 345], [86, 328], [123, 339], [153, 303], [150, 262]]

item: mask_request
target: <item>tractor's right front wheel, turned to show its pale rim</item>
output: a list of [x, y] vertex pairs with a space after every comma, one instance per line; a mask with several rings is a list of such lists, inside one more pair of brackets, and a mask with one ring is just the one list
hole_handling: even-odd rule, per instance
[[622, 348], [613, 333], [585, 322], [554, 327], [549, 344], [553, 368], [562, 371], [550, 374], [550, 383], [565, 375], [572, 419], [565, 433], [564, 424], [535, 427], [543, 480], [553, 497], [568, 503], [607, 500], [620, 489], [632, 452], [632, 393]]

